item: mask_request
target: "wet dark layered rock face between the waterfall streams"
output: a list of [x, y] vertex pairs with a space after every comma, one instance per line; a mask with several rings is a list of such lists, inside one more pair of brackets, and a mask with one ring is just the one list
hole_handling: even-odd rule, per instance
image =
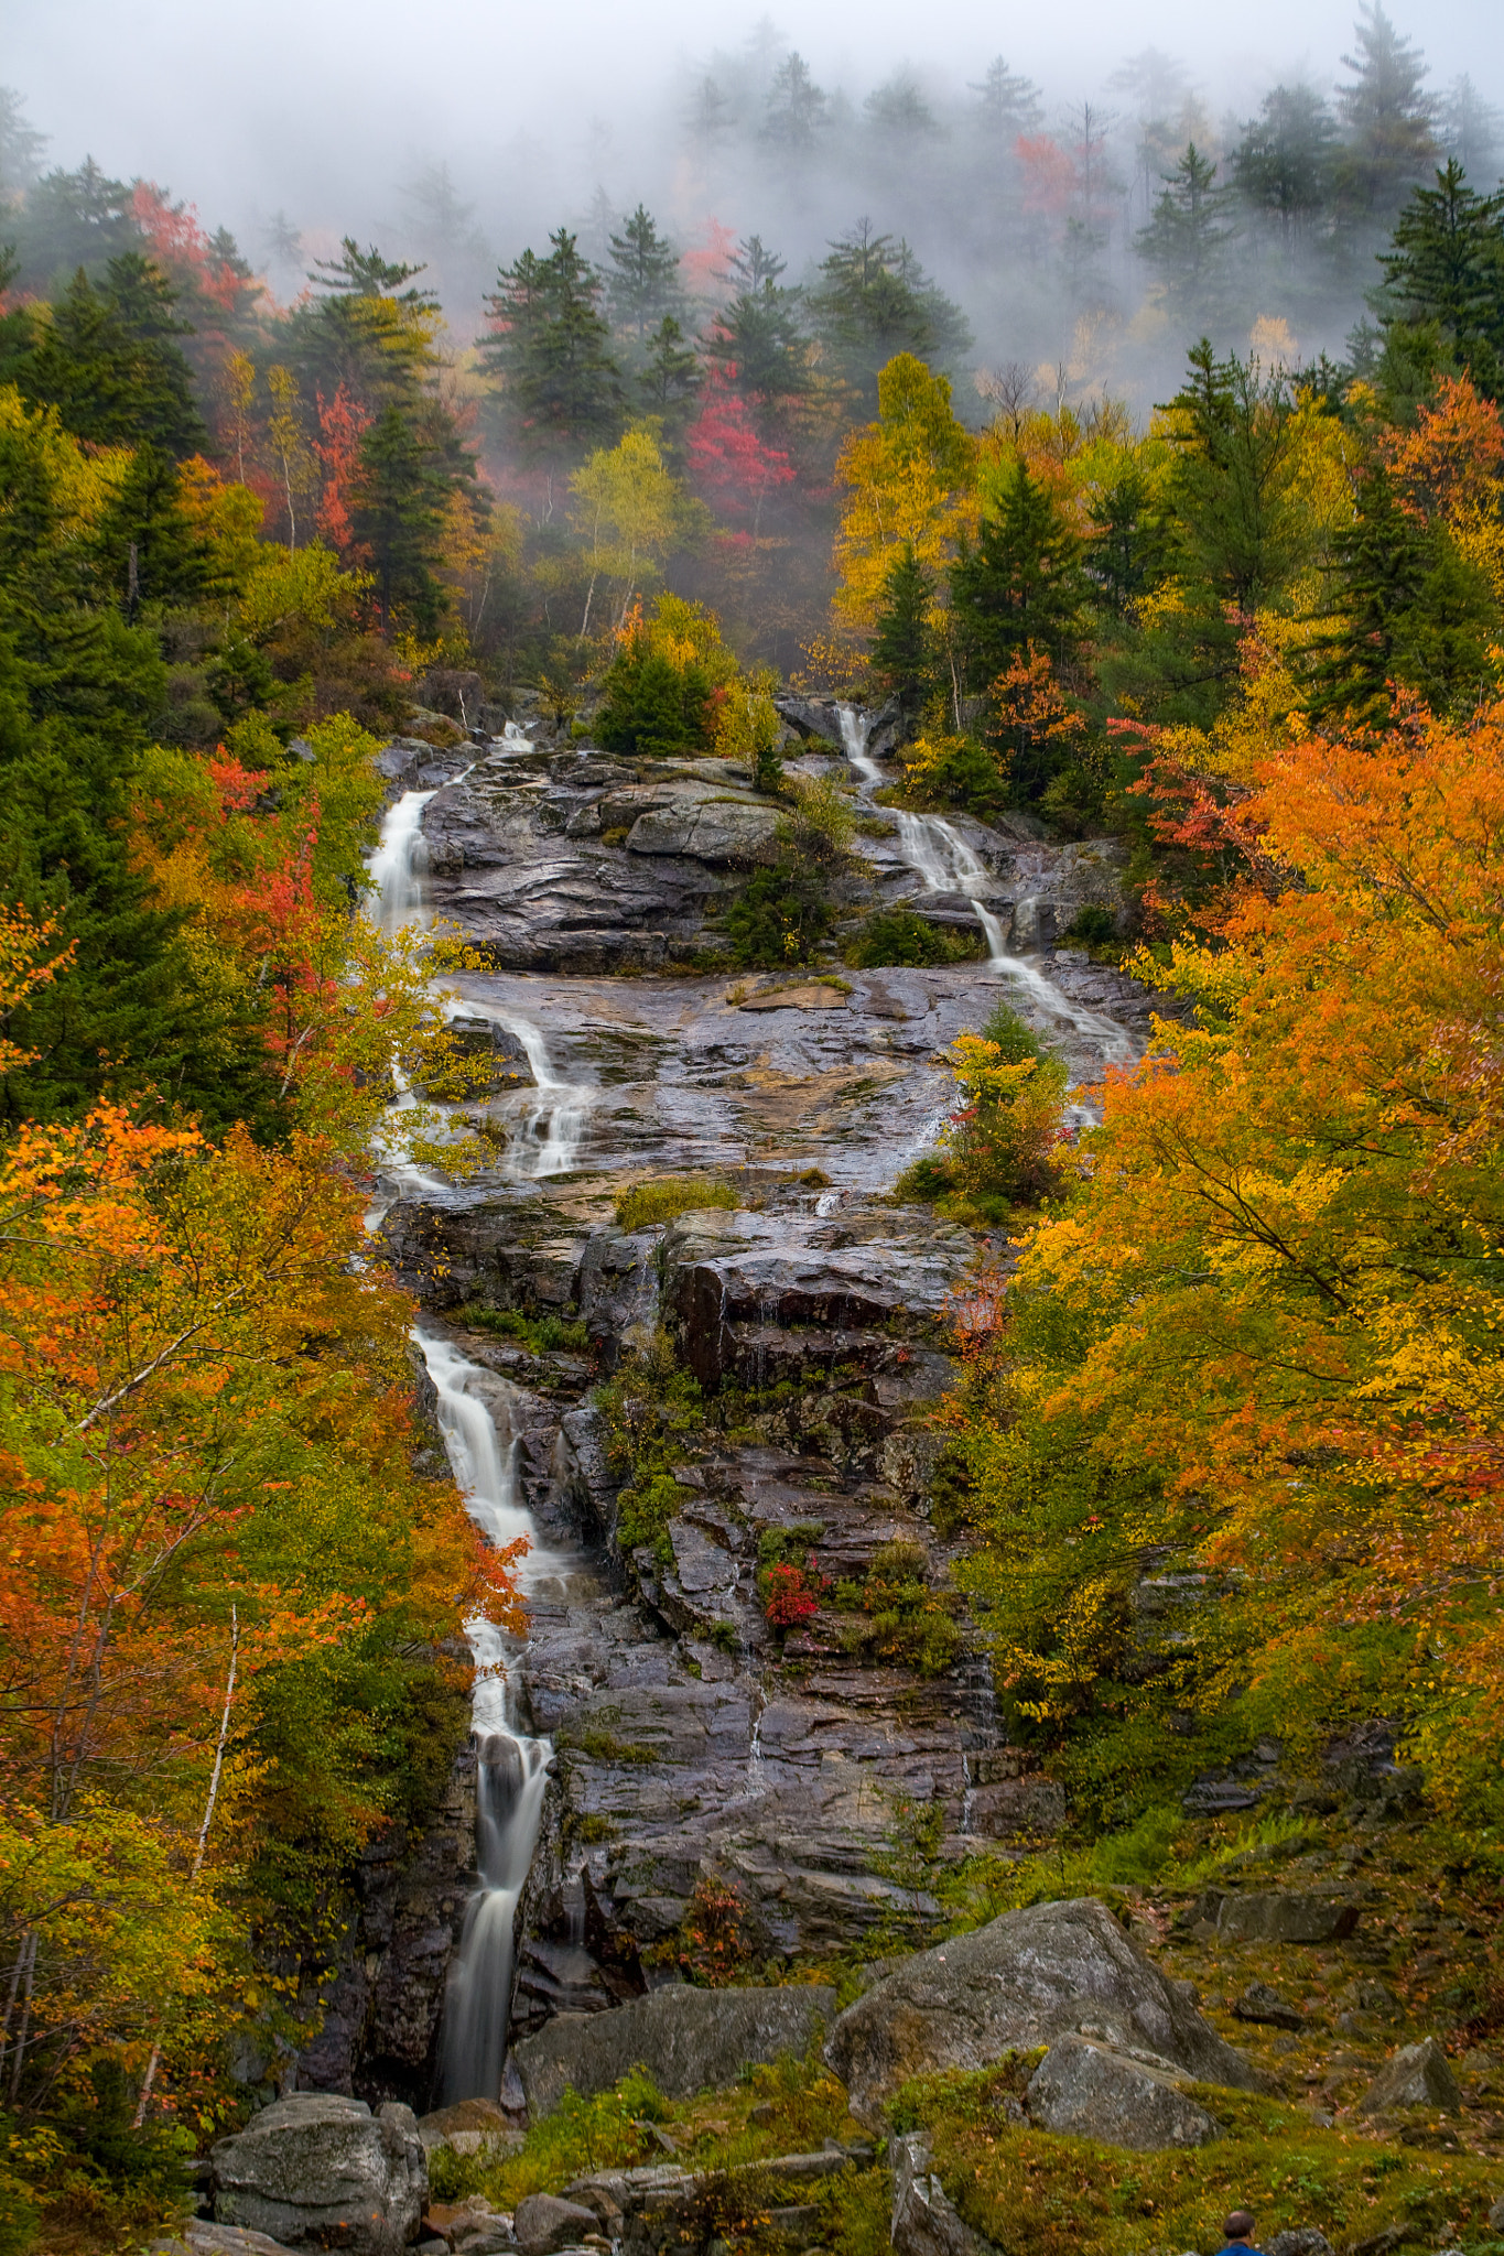
[[[816, 740], [800, 767], [832, 769]], [[974, 1245], [891, 1193], [954, 1103], [943, 1051], [997, 1002], [1089, 1081], [1103, 1020], [1141, 1036], [1154, 999], [1067, 950], [1049, 979], [884, 968], [850, 972], [846, 993], [692, 975], [690, 948], [715, 936], [776, 819], [742, 772], [494, 749], [437, 787], [428, 747], [392, 758], [395, 781], [435, 787], [426, 905], [496, 966], [458, 979], [462, 1036], [494, 1060], [496, 1160], [462, 1184], [392, 1184], [383, 1234], [426, 1322], [485, 1374], [471, 1390], [516, 1442], [557, 1563], [514, 1672], [519, 1724], [555, 1744], [516, 1920], [519, 2042], [561, 2015], [636, 2010], [676, 1965], [704, 1882], [737, 1891], [753, 1963], [837, 1951], [879, 1920], [931, 1915], [891, 1877], [904, 1807], [943, 1812], [947, 1857], [1064, 1821], [1060, 1787], [1003, 1744], [952, 1586], [963, 1539], [931, 1505], [945, 1308]], [[1030, 902], [1062, 925], [1091, 887], [1116, 898], [1112, 855], [1091, 846], [1051, 857], [1026, 835], [961, 817], [956, 830], [1008, 929]], [[870, 898], [974, 923], [967, 900], [920, 900], [897, 823], [861, 848]], [[724, 1175], [742, 1205], [616, 1227], [616, 1191], [661, 1173]], [[471, 1329], [471, 1308], [534, 1331]], [[541, 1347], [546, 1318], [580, 1322], [589, 1345]], [[658, 1489], [649, 1541], [627, 1545], [625, 1466], [591, 1394], [658, 1329], [719, 1408]], [[773, 1561], [846, 1595], [769, 1622]], [[882, 1561], [922, 1586], [929, 1645], [877, 1638], [861, 1593]], [[460, 1794], [428, 1877], [368, 1877], [300, 2082], [431, 2103], [467, 1825]]]

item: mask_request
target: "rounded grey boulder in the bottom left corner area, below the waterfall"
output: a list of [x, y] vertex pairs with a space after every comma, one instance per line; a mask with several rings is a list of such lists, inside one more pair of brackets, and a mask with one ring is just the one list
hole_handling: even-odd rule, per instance
[[399, 2256], [417, 2238], [428, 2159], [410, 2107], [295, 2091], [212, 2154], [214, 2222], [293, 2249]]

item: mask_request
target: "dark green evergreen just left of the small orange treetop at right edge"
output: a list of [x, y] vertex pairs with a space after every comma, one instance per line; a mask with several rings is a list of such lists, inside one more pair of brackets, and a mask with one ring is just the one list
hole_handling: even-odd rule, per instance
[[1499, 625], [1488, 575], [1403, 508], [1382, 469], [1362, 481], [1337, 571], [1339, 625], [1317, 645], [1312, 708], [1382, 724], [1400, 684], [1436, 713], [1468, 713]]

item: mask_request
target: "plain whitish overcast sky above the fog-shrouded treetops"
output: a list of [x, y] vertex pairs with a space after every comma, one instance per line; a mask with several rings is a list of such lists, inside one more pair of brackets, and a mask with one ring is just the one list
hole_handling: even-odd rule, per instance
[[[1445, 86], [1468, 70], [1504, 102], [1504, 0], [1391, 0]], [[706, 0], [9, 0], [0, 79], [18, 86], [50, 160], [88, 151], [147, 174], [214, 226], [255, 230], [286, 208], [300, 226], [374, 228], [383, 199], [446, 160], [487, 235], [534, 228], [548, 199], [593, 174], [636, 196], [663, 174], [667, 90], [713, 47], [740, 45], [762, 9]], [[1330, 86], [1351, 47], [1353, 0], [1123, 0], [985, 7], [979, 0], [807, 0], [773, 23], [823, 83], [866, 92], [909, 63], [961, 88], [994, 54], [1051, 104], [1100, 92], [1125, 54], [1182, 56], [1213, 115], [1247, 113], [1276, 77]], [[604, 120], [611, 140], [604, 142]], [[543, 192], [539, 196], [539, 192]]]

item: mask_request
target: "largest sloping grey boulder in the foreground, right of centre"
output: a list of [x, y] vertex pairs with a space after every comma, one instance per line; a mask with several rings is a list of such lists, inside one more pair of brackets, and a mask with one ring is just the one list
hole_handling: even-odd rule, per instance
[[848, 2006], [825, 2060], [868, 2121], [909, 2076], [985, 2069], [1082, 2030], [1209, 2085], [1263, 2087], [1186, 1988], [1150, 1965], [1096, 1897], [1035, 1904], [918, 1951]]

